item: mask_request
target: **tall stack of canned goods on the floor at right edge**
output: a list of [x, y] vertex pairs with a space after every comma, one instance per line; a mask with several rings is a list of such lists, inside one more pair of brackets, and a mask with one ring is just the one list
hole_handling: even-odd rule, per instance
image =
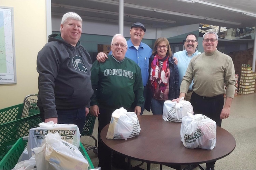
[[256, 73], [252, 71], [252, 67], [242, 64], [241, 76], [239, 82], [239, 94], [251, 94], [255, 91]]

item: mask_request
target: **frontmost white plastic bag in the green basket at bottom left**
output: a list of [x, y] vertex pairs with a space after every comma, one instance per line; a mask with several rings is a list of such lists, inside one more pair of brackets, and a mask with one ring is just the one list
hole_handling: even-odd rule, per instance
[[41, 147], [33, 148], [37, 170], [88, 170], [88, 162], [78, 148], [58, 133], [48, 133]]

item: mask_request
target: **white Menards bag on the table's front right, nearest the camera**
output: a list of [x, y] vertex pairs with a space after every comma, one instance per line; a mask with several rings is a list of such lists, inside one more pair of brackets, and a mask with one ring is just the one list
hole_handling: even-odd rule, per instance
[[181, 141], [186, 148], [212, 150], [216, 146], [216, 122], [202, 114], [182, 118]]

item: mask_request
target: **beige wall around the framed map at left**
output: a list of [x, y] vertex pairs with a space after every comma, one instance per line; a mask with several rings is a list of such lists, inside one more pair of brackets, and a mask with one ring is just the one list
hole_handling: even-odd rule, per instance
[[47, 42], [45, 0], [1, 0], [13, 7], [17, 84], [0, 85], [0, 109], [38, 93], [37, 53]]

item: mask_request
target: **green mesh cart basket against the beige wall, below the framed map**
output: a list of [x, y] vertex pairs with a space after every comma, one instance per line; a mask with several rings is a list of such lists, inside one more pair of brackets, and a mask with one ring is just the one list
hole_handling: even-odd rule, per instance
[[0, 109], [0, 125], [20, 119], [22, 116], [23, 107], [24, 104], [18, 104]]

